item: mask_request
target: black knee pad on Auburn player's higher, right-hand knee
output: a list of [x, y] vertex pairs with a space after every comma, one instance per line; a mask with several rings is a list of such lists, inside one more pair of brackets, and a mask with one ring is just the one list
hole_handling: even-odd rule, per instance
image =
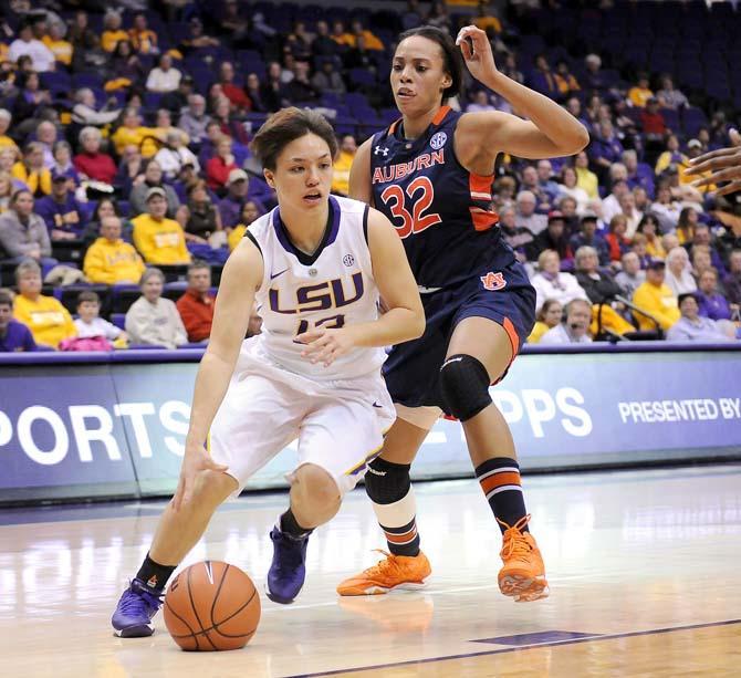
[[472, 355], [451, 355], [440, 367], [442, 409], [460, 421], [476, 417], [491, 404], [489, 373]]

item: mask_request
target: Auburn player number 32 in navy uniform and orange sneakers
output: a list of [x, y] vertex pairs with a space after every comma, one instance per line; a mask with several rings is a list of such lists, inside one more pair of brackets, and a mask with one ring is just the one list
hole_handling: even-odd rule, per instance
[[429, 575], [409, 468], [441, 410], [462, 423], [476, 477], [503, 534], [501, 592], [516, 601], [547, 595], [512, 436], [489, 395], [535, 316], [534, 290], [492, 211], [492, 173], [500, 153], [568, 156], [588, 135], [556, 103], [500, 73], [483, 31], [463, 28], [457, 44], [471, 75], [529, 119], [451, 111], [443, 104], [461, 84], [458, 48], [431, 27], [401, 34], [390, 73], [401, 118], [361, 146], [349, 191], [396, 226], [427, 327], [421, 338], [395, 346], [384, 366], [397, 419], [365, 477], [390, 554], [340, 584], [341, 595], [417, 586]]

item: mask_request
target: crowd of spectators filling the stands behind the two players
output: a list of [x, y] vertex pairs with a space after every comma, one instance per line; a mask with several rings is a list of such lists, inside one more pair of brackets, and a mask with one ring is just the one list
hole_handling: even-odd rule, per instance
[[[346, 194], [357, 144], [397, 116], [385, 81], [398, 32], [431, 23], [455, 35], [471, 21], [504, 73], [561, 102], [592, 138], [574, 158], [504, 156], [495, 168], [502, 237], [538, 292], [530, 341], [735, 336], [741, 218], [683, 175], [727, 144], [732, 114], [718, 108], [690, 132], [685, 113], [709, 101], [697, 91], [662, 72], [616, 77], [596, 53], [533, 53], [525, 24], [499, 6], [289, 17], [236, 0], [11, 3], [0, 22], [0, 267], [17, 294], [0, 291], [0, 347], [208, 341], [211, 273], [275, 205], [249, 149], [267, 115], [322, 111], [340, 140], [333, 190]], [[448, 103], [516, 114], [470, 77]], [[44, 289], [54, 280], [80, 294]], [[100, 285], [140, 296], [112, 324]]]

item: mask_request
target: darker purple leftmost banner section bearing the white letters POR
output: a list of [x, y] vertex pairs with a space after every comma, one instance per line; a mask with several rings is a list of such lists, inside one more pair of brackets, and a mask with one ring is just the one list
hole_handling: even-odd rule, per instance
[[136, 496], [107, 365], [0, 369], [0, 501]]

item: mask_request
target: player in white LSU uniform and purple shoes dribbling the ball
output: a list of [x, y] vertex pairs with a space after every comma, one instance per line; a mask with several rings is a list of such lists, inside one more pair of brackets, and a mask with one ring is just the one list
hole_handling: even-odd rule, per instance
[[[291, 603], [312, 530], [338, 510], [394, 421], [383, 346], [420, 336], [419, 293], [394, 227], [367, 205], [330, 196], [334, 132], [286, 108], [254, 137], [278, 208], [229, 258], [196, 378], [180, 480], [113, 626], [154, 633], [165, 584], [213, 511], [291, 440], [291, 501], [270, 536], [267, 593]], [[389, 311], [378, 317], [379, 293]], [[257, 300], [262, 334], [244, 340]], [[210, 434], [210, 453], [205, 441]]]

